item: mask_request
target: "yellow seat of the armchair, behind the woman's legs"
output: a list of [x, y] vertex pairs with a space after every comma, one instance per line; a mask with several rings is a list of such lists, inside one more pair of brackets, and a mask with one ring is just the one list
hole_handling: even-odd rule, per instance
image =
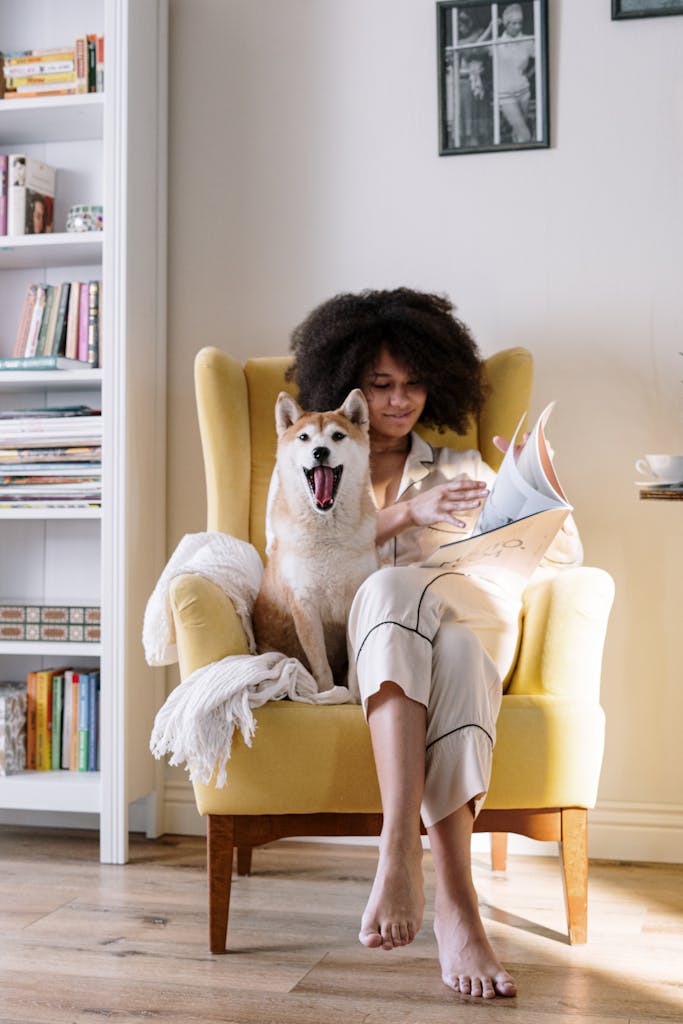
[[[289, 701], [255, 712], [253, 745], [236, 736], [227, 785], [196, 782], [202, 814], [379, 813], [370, 732], [356, 705]], [[485, 807], [592, 807], [604, 739], [599, 705], [503, 698]]]

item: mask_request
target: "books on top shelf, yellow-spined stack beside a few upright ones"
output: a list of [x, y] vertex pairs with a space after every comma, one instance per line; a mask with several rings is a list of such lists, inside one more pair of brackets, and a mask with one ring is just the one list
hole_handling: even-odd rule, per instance
[[52, 49], [0, 53], [1, 99], [103, 91], [104, 37], [95, 33]]

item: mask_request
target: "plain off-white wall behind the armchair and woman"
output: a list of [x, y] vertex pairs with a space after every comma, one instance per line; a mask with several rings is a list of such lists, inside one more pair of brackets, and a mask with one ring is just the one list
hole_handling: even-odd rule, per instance
[[[431, 0], [171, 0], [170, 545], [204, 526], [198, 348], [284, 353], [342, 290], [447, 292], [484, 354], [533, 351], [616, 582], [591, 851], [681, 860], [683, 505], [639, 501], [633, 463], [683, 452], [683, 16], [550, 7], [552, 147], [439, 158]], [[170, 826], [188, 797], [169, 771]]]

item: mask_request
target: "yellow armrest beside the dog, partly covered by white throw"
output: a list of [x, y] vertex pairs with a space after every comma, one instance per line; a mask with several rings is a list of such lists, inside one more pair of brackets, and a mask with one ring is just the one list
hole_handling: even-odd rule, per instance
[[249, 653], [234, 606], [215, 583], [184, 573], [171, 582], [169, 597], [182, 679], [228, 654]]

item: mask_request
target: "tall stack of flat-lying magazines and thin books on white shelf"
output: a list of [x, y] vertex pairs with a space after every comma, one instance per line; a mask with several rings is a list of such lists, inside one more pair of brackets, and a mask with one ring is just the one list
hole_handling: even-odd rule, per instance
[[0, 412], [0, 509], [99, 509], [101, 413], [88, 406]]

